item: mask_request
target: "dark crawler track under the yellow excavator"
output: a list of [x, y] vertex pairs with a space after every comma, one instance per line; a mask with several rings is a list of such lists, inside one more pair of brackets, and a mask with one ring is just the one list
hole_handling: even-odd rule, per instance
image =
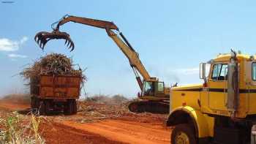
[[128, 105], [129, 111], [133, 113], [169, 113], [169, 104], [167, 102], [138, 101], [131, 102]]

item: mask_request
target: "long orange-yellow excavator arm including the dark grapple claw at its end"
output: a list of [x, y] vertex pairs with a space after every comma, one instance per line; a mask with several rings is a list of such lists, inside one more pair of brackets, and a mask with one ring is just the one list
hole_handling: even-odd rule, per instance
[[[155, 80], [154, 77], [150, 77], [142, 62], [140, 61], [138, 53], [132, 48], [132, 45], [129, 44], [128, 40], [124, 37], [124, 34], [122, 34], [118, 30], [118, 27], [113, 22], [105, 20], [95, 20], [91, 18], [80, 18], [67, 15], [58, 22], [56, 22], [57, 25], [56, 28], [53, 29], [53, 32], [39, 32], [35, 36], [35, 40], [39, 44], [40, 48], [43, 49], [46, 42], [48, 42], [50, 39], [66, 39], [65, 44], [68, 42], [67, 45], [70, 44], [69, 48], [72, 48], [73, 50], [75, 45], [69, 38], [69, 34], [59, 31], [60, 26], [68, 22], [80, 23], [87, 26], [94, 26], [97, 28], [105, 29], [108, 33], [108, 36], [111, 37], [111, 39], [113, 39], [114, 42], [116, 42], [118, 48], [120, 48], [124, 55], [127, 56], [127, 58], [129, 59], [129, 64], [132, 67], [133, 71], [135, 72], [136, 80], [138, 81], [141, 90], [143, 90], [143, 82], [140, 78], [140, 75], [146, 81]], [[116, 30], [118, 33], [116, 34], [112, 30]]]

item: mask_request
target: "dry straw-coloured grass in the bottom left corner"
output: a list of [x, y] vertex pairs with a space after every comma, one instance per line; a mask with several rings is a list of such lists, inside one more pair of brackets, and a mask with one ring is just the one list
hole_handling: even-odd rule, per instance
[[45, 143], [39, 134], [40, 117], [31, 115], [26, 120], [17, 112], [9, 113], [0, 119], [0, 143]]

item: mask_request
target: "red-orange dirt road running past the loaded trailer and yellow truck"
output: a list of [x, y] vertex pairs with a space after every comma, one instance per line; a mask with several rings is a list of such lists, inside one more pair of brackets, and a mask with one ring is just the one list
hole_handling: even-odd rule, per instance
[[[1, 102], [1, 111], [25, 110], [29, 105]], [[41, 124], [46, 143], [170, 143], [170, 129], [162, 120], [141, 116], [146, 122], [129, 118], [107, 119], [82, 124], [77, 121], [83, 115], [46, 116], [49, 121]], [[138, 117], [140, 118], [140, 117]]]

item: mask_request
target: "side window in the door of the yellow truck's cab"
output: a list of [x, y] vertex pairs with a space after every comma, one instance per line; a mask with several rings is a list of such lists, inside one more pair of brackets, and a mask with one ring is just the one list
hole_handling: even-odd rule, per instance
[[227, 80], [227, 64], [214, 64], [212, 80]]

